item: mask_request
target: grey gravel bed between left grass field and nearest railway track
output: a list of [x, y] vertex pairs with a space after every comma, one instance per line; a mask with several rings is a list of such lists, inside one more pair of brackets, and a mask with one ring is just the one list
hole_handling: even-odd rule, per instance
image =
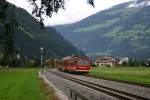
[[44, 75], [50, 83], [61, 90], [69, 100], [75, 100], [75, 98], [77, 98], [77, 100], [81, 100], [81, 98], [84, 100], [117, 100], [107, 94], [61, 78], [47, 71], [43, 71], [41, 74]]

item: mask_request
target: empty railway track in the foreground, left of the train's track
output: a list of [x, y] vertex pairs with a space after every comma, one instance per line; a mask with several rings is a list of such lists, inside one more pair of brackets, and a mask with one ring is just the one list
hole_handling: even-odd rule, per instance
[[62, 77], [64, 79], [73, 81], [75, 83], [84, 85], [84, 86], [89, 87], [91, 89], [94, 89], [96, 91], [102, 92], [102, 93], [107, 94], [109, 96], [115, 97], [115, 98], [120, 99], [120, 100], [150, 100], [149, 98], [146, 98], [144, 96], [142, 97], [142, 96], [139, 96], [139, 95], [135, 95], [135, 94], [127, 93], [127, 92], [124, 92], [124, 91], [112, 89], [112, 88], [105, 87], [105, 86], [102, 86], [102, 85], [99, 85], [99, 84], [96, 84], [96, 83], [92, 83], [92, 82], [88, 82], [88, 81], [85, 81], [85, 80], [73, 78], [73, 77], [70, 77], [70, 76], [67, 76], [67, 75], [63, 75], [63, 74], [60, 74], [60, 73], [57, 73], [57, 72], [54, 72], [54, 71], [51, 71], [51, 70], [49, 70], [48, 72], [51, 73], [51, 74], [54, 74], [56, 76]]

